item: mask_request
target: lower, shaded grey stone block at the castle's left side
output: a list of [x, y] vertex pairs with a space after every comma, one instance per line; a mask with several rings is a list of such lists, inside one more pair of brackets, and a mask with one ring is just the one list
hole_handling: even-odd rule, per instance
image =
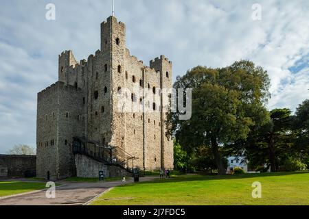
[[38, 93], [37, 107], [37, 176], [70, 177], [75, 169], [72, 139], [84, 136], [82, 90], [58, 81]]

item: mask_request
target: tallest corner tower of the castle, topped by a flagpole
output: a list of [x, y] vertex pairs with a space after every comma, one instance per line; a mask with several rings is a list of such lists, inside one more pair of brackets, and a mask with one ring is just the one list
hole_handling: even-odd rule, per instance
[[109, 16], [101, 24], [101, 51], [108, 56], [111, 90], [111, 139], [109, 144], [125, 150], [126, 115], [117, 110], [117, 92], [126, 88], [126, 25]]

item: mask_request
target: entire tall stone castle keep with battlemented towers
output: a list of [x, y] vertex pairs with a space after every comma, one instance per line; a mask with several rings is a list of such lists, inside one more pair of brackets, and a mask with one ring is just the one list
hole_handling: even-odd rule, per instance
[[[38, 93], [37, 177], [97, 177], [98, 170], [111, 177], [133, 167], [173, 168], [163, 109], [168, 98], [161, 92], [172, 88], [172, 62], [161, 55], [145, 66], [130, 55], [126, 26], [110, 16], [101, 24], [95, 55], [77, 62], [65, 51], [58, 65], [58, 81]], [[119, 110], [120, 94], [143, 110]]]

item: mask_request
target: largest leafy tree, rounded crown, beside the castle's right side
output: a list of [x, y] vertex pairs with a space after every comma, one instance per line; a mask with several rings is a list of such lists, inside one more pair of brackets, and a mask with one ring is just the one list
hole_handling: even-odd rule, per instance
[[193, 89], [192, 118], [179, 120], [178, 113], [170, 114], [170, 133], [187, 153], [208, 146], [223, 175], [225, 146], [236, 147], [236, 142], [247, 138], [250, 127], [264, 123], [269, 84], [266, 71], [249, 61], [226, 68], [193, 68], [174, 83], [174, 88]]

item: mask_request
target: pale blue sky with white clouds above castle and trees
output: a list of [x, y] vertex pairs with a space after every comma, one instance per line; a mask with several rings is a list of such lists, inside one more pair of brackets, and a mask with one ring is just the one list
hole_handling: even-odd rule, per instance
[[[100, 49], [100, 23], [111, 0], [0, 0], [0, 153], [35, 146], [36, 94], [58, 79], [58, 54], [78, 60]], [[47, 3], [56, 21], [47, 21]], [[253, 21], [253, 3], [262, 20]], [[115, 0], [126, 23], [127, 47], [144, 63], [161, 54], [173, 77], [197, 65], [227, 66], [249, 59], [268, 70], [268, 108], [309, 99], [309, 1]]]

